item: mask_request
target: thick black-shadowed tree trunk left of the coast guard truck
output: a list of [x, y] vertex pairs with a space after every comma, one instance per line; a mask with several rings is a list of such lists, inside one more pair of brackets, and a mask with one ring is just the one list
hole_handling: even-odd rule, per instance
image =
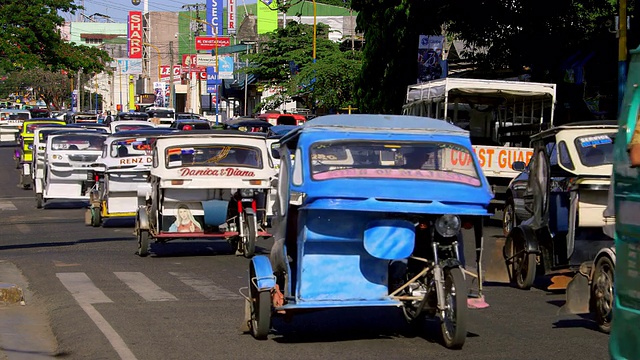
[[420, 34], [440, 34], [444, 0], [352, 0], [358, 31], [364, 33], [362, 71], [357, 80], [361, 112], [398, 114], [407, 85], [417, 77]]

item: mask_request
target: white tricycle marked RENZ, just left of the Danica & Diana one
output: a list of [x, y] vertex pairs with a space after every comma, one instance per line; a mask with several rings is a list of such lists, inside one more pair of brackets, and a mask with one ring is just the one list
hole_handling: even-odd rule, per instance
[[[111, 123], [112, 125], [116, 122]], [[114, 217], [135, 217], [150, 192], [153, 143], [169, 129], [139, 129], [122, 131], [105, 140], [102, 156], [89, 174], [96, 186], [89, 196], [87, 222], [102, 225], [102, 220]]]

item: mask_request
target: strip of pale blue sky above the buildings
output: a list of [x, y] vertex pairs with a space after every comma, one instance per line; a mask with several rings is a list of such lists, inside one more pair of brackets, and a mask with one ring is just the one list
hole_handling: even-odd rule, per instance
[[[144, 0], [140, 0], [140, 5], [133, 5], [131, 0], [75, 0], [78, 5], [84, 6], [84, 14], [91, 16], [93, 14], [102, 14], [111, 17], [114, 22], [126, 23], [129, 11], [144, 11]], [[223, 6], [227, 6], [226, 0], [221, 0]], [[243, 3], [254, 4], [257, 0], [236, 0], [236, 6], [242, 6]], [[182, 6], [188, 4], [206, 3], [206, 0], [148, 0], [149, 11], [184, 11]], [[76, 15], [64, 14], [63, 17], [67, 21], [82, 21], [79, 13]], [[88, 20], [84, 20], [88, 21]], [[103, 20], [98, 19], [103, 22]]]

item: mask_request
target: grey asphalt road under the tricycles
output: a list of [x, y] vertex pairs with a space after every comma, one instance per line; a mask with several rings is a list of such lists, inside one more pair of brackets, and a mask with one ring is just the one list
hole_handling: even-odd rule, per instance
[[[502, 270], [500, 261], [490, 259], [499, 254], [496, 227], [485, 228], [485, 267], [491, 274], [485, 295], [491, 306], [471, 310], [462, 350], [440, 345], [435, 323], [425, 334], [411, 333], [397, 309], [316, 312], [289, 323], [278, 319], [278, 332], [258, 341], [240, 330], [244, 306], [238, 290], [247, 286], [248, 260], [235, 256], [225, 242], [169, 243], [139, 258], [131, 222], [85, 226], [82, 203], [50, 203], [37, 210], [33, 192], [17, 187], [11, 148], [0, 148], [0, 169], [0, 262], [15, 264], [27, 279], [26, 308], [48, 319], [56, 357], [608, 358], [608, 336], [589, 319], [558, 315], [563, 293], [521, 291], [496, 281]], [[465, 235], [467, 259], [472, 259], [471, 234]], [[259, 246], [268, 252], [270, 242]], [[0, 311], [0, 322], [7, 313]], [[42, 354], [3, 351], [8, 359]]]

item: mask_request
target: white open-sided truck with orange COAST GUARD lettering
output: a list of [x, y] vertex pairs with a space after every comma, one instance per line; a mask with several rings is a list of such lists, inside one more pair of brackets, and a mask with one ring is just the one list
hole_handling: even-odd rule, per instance
[[[446, 120], [469, 130], [471, 143], [492, 186], [490, 209], [502, 220], [505, 193], [519, 172], [514, 161], [533, 154], [529, 136], [553, 126], [556, 85], [536, 82], [445, 78], [409, 85], [403, 114]], [[470, 161], [450, 153], [451, 166]]]

